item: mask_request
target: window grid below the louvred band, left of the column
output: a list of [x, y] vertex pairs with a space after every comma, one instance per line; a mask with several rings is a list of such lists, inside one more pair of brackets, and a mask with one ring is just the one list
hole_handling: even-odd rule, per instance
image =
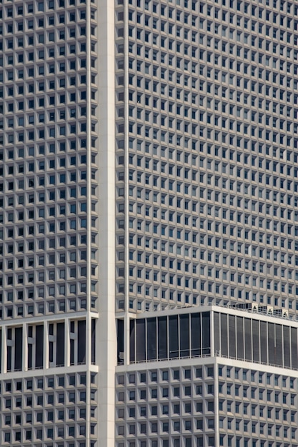
[[[86, 447], [86, 372], [4, 380], [1, 393], [1, 445]], [[95, 396], [93, 386], [91, 432]]]

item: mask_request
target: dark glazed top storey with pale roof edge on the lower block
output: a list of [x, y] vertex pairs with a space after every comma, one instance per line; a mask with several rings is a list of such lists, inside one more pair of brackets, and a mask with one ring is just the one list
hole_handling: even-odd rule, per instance
[[297, 370], [298, 322], [257, 310], [205, 306], [139, 313], [129, 320], [129, 343], [119, 319], [118, 363], [217, 356]]

